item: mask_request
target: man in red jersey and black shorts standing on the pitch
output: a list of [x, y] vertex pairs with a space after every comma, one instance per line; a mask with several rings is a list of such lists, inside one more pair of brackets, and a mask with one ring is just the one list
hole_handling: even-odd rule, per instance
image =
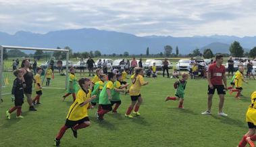
[[[202, 115], [210, 115], [211, 114], [211, 105], [212, 105], [212, 98], [217, 89], [217, 94], [220, 97], [219, 102], [219, 113], [220, 116], [228, 116], [225, 114], [222, 109], [224, 106], [224, 96], [227, 90], [227, 80], [226, 80], [226, 70], [223, 63], [223, 56], [216, 55], [215, 57], [216, 63], [209, 65], [208, 73], [207, 73], [207, 80], [208, 80], [208, 109], [207, 111], [203, 112]], [[223, 85], [224, 83], [224, 85]]]

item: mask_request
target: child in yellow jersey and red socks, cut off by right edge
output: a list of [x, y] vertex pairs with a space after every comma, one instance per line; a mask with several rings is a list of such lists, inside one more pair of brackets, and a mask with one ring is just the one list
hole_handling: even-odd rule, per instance
[[256, 128], [256, 91], [251, 94], [251, 105], [247, 110], [246, 121], [249, 127], [249, 131], [245, 136], [242, 137], [242, 140], [239, 142], [238, 147], [245, 147], [247, 142], [251, 146], [255, 146], [254, 142], [256, 141], [255, 128]]

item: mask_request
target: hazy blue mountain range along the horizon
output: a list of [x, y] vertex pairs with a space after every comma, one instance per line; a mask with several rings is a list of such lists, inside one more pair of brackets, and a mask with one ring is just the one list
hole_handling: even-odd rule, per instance
[[74, 52], [101, 51], [102, 54], [120, 54], [128, 51], [130, 54], [163, 52], [165, 45], [170, 45], [175, 52], [178, 46], [180, 54], [191, 53], [194, 49], [211, 49], [213, 53], [229, 53], [229, 47], [234, 40], [246, 50], [256, 46], [256, 36], [136, 36], [122, 32], [82, 28], [76, 30], [58, 30], [46, 34], [33, 32], [16, 32], [7, 34], [0, 32], [0, 45], [15, 45], [23, 47], [70, 47]]

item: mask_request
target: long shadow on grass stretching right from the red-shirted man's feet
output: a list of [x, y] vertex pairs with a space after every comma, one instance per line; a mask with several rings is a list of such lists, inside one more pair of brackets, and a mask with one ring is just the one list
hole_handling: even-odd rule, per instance
[[220, 117], [217, 115], [210, 115], [214, 119], [220, 120], [221, 123], [228, 124], [228, 125], [236, 125], [237, 127], [247, 128], [245, 127], [245, 121], [240, 121], [238, 119], [232, 119], [230, 117]]

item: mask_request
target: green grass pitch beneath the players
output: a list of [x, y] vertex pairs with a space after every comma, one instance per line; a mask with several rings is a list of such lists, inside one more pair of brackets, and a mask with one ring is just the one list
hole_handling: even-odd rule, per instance
[[[63, 84], [55, 76], [53, 84]], [[212, 115], [201, 115], [207, 107], [206, 80], [188, 80], [184, 98], [184, 108], [177, 109], [178, 101], [164, 102], [165, 96], [174, 94], [175, 80], [166, 78], [145, 78], [148, 86], [142, 89], [144, 98], [140, 107], [140, 117], [128, 119], [124, 113], [130, 104], [130, 97], [122, 95], [122, 105], [118, 114], [108, 113], [105, 121], [95, 118], [96, 109], [89, 110], [91, 126], [78, 130], [78, 138], [68, 129], [61, 140], [61, 146], [174, 146], [174, 147], [215, 147], [236, 146], [247, 131], [245, 113], [249, 106], [249, 96], [255, 87], [255, 81], [244, 84], [245, 95], [241, 100], [226, 95], [224, 112], [228, 117], [217, 115], [217, 102], [213, 98]], [[16, 112], [11, 119], [5, 118], [5, 111], [14, 104], [10, 95], [4, 96], [0, 104], [0, 146], [53, 146], [60, 127], [65, 123], [72, 97], [61, 102], [64, 90], [44, 89], [38, 111], [28, 111], [24, 102], [22, 115], [16, 119]], [[34, 93], [33, 93], [34, 96]]]

